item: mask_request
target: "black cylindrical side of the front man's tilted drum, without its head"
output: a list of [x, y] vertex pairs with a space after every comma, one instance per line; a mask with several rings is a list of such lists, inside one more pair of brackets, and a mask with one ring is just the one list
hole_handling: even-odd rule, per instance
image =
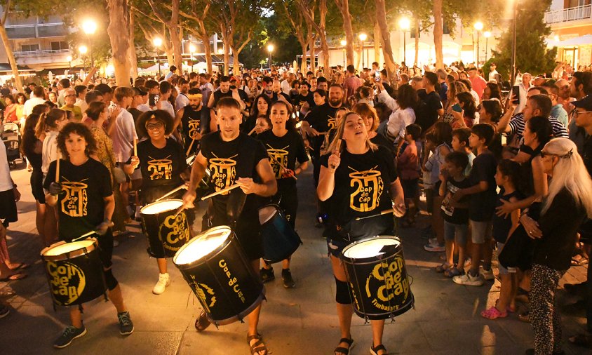
[[175, 266], [216, 325], [241, 321], [264, 299], [263, 284], [234, 233], [205, 257]]

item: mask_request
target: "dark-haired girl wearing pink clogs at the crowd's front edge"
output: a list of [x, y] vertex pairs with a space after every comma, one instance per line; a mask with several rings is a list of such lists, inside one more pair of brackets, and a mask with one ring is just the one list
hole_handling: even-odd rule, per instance
[[[499, 162], [497, 172], [495, 173], [495, 183], [502, 187], [497, 195], [496, 206], [501, 206], [502, 201], [516, 202], [523, 199], [522, 194], [516, 189], [520, 179], [520, 164], [516, 161], [504, 159]], [[520, 222], [520, 209], [513, 210], [511, 215], [500, 217], [493, 216], [493, 238], [497, 241], [497, 255], [502, 253], [502, 249], [508, 238], [518, 227]], [[499, 280], [502, 286], [499, 290], [499, 299], [495, 306], [481, 312], [481, 316], [487, 319], [504, 318], [508, 312], [516, 312], [516, 291], [518, 290], [518, 276], [513, 267], [505, 268], [501, 263], [498, 265]]]

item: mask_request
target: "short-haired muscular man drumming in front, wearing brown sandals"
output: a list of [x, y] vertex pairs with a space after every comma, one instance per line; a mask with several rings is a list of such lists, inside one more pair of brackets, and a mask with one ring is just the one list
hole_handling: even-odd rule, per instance
[[[206, 168], [212, 172], [211, 181], [216, 191], [234, 184], [239, 185], [240, 190], [234, 189], [229, 194], [214, 196], [204, 217], [208, 227], [231, 226], [245, 250], [246, 257], [252, 262], [253, 271], [259, 272], [263, 242], [257, 212], [260, 207], [258, 200], [260, 196], [270, 197], [276, 194], [274, 170], [261, 142], [241, 133], [241, 105], [238, 101], [234, 98], [221, 98], [217, 103], [216, 112], [220, 130], [203, 136], [201, 152], [197, 154], [191, 169], [191, 182], [183, 200], [187, 208], [194, 207], [195, 189]], [[235, 192], [239, 193], [238, 198]], [[237, 200], [245, 195], [244, 207], [241, 209], [241, 203], [237, 203]], [[260, 311], [261, 305], [247, 316], [247, 340], [251, 354], [256, 355], [267, 354], [267, 347], [257, 333]], [[209, 325], [206, 312], [202, 310], [196, 328], [202, 331]]]

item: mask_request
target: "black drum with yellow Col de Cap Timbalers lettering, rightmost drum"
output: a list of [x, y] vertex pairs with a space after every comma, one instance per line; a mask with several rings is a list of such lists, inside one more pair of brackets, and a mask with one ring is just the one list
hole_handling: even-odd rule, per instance
[[403, 246], [396, 236], [375, 236], [351, 243], [344, 262], [354, 311], [365, 319], [399, 316], [413, 307]]

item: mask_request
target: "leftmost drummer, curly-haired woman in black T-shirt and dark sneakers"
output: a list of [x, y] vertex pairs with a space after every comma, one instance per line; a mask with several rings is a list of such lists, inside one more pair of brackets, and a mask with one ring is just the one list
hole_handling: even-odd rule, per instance
[[[123, 303], [121, 287], [112, 272], [111, 217], [115, 200], [111, 175], [102, 163], [90, 158], [95, 151], [95, 139], [82, 123], [67, 123], [60, 131], [57, 141], [62, 156], [66, 157], [60, 159], [59, 182], [55, 182], [56, 161], [52, 161], [43, 187], [49, 191], [46, 203], [57, 206], [59, 238], [62, 241], [72, 241], [83, 234], [96, 231], [109, 300], [117, 309], [119, 333], [130, 335], [133, 333], [133, 323]], [[66, 327], [53, 343], [54, 347], [67, 347], [72, 340], [86, 334], [81, 309], [82, 307], [70, 308], [72, 326]]]

